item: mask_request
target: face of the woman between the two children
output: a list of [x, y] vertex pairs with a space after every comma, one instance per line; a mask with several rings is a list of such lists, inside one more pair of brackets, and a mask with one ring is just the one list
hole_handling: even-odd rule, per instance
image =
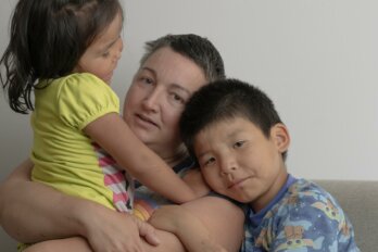
[[124, 119], [137, 137], [163, 159], [177, 154], [178, 122], [191, 94], [206, 84], [191, 60], [165, 47], [155, 51], [133, 79]]

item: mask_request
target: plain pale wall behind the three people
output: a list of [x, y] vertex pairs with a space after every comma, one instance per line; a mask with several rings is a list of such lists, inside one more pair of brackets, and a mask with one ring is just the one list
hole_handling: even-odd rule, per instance
[[[2, 0], [0, 52], [15, 0]], [[378, 180], [378, 1], [124, 0], [124, 97], [144, 41], [167, 33], [210, 38], [227, 74], [265, 90], [289, 126], [299, 177]], [[0, 96], [0, 180], [32, 144], [27, 115]], [[1, 248], [3, 247], [3, 241]]]

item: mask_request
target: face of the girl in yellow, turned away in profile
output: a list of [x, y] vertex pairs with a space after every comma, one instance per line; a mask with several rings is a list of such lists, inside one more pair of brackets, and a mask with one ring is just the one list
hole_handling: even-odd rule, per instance
[[111, 83], [123, 49], [122, 23], [122, 15], [117, 14], [108, 28], [87, 48], [74, 72], [91, 73], [106, 84]]

